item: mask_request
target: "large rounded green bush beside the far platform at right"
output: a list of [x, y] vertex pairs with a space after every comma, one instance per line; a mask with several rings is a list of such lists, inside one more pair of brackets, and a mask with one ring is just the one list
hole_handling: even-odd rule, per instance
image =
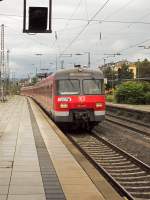
[[144, 94], [145, 91], [143, 83], [128, 81], [122, 83], [117, 88], [115, 97], [117, 103], [144, 104]]

